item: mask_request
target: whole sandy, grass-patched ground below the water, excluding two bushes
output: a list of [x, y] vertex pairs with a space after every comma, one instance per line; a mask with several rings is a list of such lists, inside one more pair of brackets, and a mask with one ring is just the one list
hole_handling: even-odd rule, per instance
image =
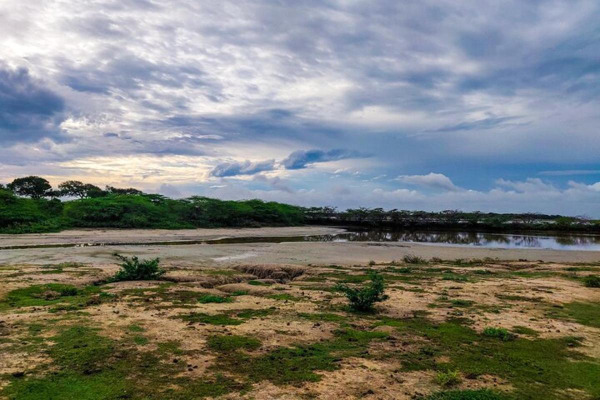
[[[2, 236], [0, 245], [137, 244], [0, 250], [0, 399], [600, 396], [597, 252], [139, 244], [336, 231]], [[166, 273], [110, 282], [114, 252], [160, 257]], [[355, 312], [337, 285], [361, 287], [374, 271], [389, 299]]]

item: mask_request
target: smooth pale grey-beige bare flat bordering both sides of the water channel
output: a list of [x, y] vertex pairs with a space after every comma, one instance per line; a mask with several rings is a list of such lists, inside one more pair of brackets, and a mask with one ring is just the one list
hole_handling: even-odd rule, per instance
[[[223, 237], [301, 236], [335, 234], [343, 230], [329, 227], [285, 227], [197, 230], [70, 230], [60, 233], [0, 235], [0, 248], [14, 245], [66, 243], [140, 243], [170, 240], [209, 240]], [[184, 265], [229, 265], [235, 263], [341, 264], [353, 265], [370, 260], [389, 262], [406, 254], [444, 260], [456, 258], [498, 258], [499, 260], [544, 260], [554, 262], [592, 262], [600, 251], [560, 251], [547, 249], [493, 249], [441, 246], [418, 243], [381, 242], [284, 242], [193, 245], [106, 245], [76, 248], [0, 249], [2, 264], [46, 264], [61, 262], [112, 263], [112, 254], [161, 257]]]

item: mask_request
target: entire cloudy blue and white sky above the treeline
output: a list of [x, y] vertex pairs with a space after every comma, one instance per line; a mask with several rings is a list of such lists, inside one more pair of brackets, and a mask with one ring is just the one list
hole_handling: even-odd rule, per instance
[[0, 182], [600, 217], [598, 0], [0, 0]]

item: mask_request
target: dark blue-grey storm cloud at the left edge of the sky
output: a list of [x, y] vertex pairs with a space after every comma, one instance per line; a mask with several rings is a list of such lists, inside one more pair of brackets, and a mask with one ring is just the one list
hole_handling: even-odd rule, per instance
[[0, 66], [0, 143], [59, 139], [65, 102], [25, 68]]

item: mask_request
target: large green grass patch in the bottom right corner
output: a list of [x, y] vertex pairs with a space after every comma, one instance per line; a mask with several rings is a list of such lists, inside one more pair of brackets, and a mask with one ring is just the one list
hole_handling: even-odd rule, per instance
[[[560, 390], [565, 389], [583, 390], [592, 398], [600, 396], [600, 363], [576, 351], [580, 345], [576, 338], [502, 341], [456, 321], [435, 324], [421, 317], [383, 319], [378, 324], [396, 327], [405, 338], [420, 338], [414, 341], [418, 350], [395, 356], [404, 371], [458, 369], [472, 377], [496, 375], [514, 387], [507, 399], [562, 400]], [[449, 361], [439, 361], [442, 356]], [[452, 396], [446, 398], [463, 398]]]

